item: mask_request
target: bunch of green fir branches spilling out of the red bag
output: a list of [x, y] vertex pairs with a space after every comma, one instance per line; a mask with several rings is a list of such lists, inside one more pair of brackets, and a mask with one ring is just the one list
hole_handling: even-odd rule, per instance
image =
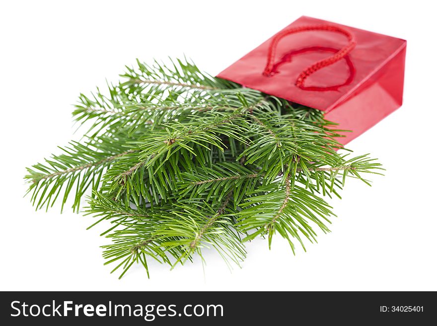
[[[187, 60], [137, 62], [108, 90], [80, 94], [74, 121], [82, 142], [28, 169], [37, 209], [73, 210], [106, 221], [106, 263], [121, 276], [147, 260], [172, 267], [215, 249], [239, 264], [246, 241], [316, 241], [329, 232], [332, 207], [347, 177], [380, 164], [340, 154], [341, 132], [317, 110], [291, 104], [201, 72]], [[105, 94], [106, 93], [106, 94]], [[83, 201], [83, 200], [82, 200]], [[306, 240], [305, 240], [306, 238]]]

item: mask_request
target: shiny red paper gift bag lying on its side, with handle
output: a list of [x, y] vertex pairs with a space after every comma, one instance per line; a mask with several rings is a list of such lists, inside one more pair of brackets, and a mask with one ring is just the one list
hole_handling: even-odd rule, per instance
[[346, 144], [402, 105], [406, 41], [302, 16], [218, 77], [325, 111]]

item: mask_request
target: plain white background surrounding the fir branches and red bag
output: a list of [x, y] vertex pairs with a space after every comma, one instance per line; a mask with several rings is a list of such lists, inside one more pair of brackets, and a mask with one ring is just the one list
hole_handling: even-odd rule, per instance
[[[437, 290], [436, 31], [433, 1], [5, 1], [0, 9], [1, 290]], [[25, 167], [66, 144], [79, 92], [136, 58], [186, 54], [216, 74], [301, 15], [408, 41], [404, 105], [348, 146], [387, 169], [350, 182], [332, 233], [293, 257], [279, 235], [230, 272], [214, 253], [122, 280], [103, 266], [91, 217], [23, 198]], [[75, 136], [77, 137], [77, 135]], [[321, 232], [320, 232], [321, 233]]]

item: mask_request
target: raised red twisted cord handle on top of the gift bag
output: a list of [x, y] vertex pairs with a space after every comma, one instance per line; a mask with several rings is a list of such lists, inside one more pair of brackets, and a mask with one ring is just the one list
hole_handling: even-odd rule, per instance
[[273, 69], [273, 62], [275, 59], [276, 54], [276, 48], [278, 46], [279, 41], [281, 41], [282, 38], [284, 38], [287, 35], [304, 32], [304, 31], [329, 31], [329, 32], [336, 32], [341, 33], [345, 35], [348, 38], [349, 44], [339, 50], [337, 53], [332, 55], [329, 58], [320, 60], [316, 62], [313, 65], [310, 65], [306, 69], [304, 69], [299, 76], [296, 79], [296, 86], [299, 88], [304, 87], [303, 83], [305, 79], [316, 72], [317, 70], [326, 67], [327, 65], [332, 65], [336, 63], [337, 61], [343, 59], [345, 56], [347, 56], [357, 45], [357, 41], [355, 40], [354, 35], [347, 31], [344, 28], [334, 26], [334, 25], [306, 25], [306, 26], [299, 26], [299, 27], [293, 27], [286, 30], [283, 30], [275, 35], [275, 37], [272, 40], [272, 43], [269, 46], [268, 54], [267, 54], [267, 65], [264, 68], [263, 75], [264, 76], [270, 76], [272, 74]]

